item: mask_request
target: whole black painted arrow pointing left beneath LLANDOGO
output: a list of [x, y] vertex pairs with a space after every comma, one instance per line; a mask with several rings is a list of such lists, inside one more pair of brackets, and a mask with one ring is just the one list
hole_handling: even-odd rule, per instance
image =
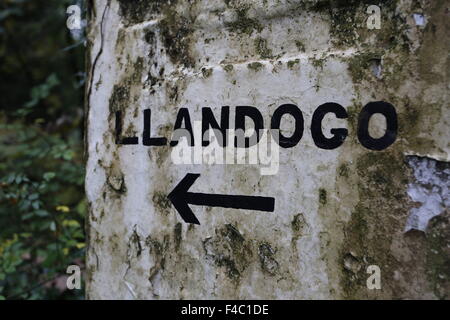
[[273, 212], [274, 210], [274, 198], [188, 192], [198, 177], [200, 177], [200, 174], [197, 173], [186, 174], [168, 195], [169, 200], [186, 223], [200, 224], [189, 204], [267, 212]]

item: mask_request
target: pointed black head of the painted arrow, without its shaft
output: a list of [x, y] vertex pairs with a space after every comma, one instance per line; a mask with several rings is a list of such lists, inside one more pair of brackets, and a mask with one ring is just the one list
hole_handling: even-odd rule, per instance
[[188, 173], [167, 196], [186, 223], [200, 224], [187, 202], [187, 192], [200, 177], [198, 173]]

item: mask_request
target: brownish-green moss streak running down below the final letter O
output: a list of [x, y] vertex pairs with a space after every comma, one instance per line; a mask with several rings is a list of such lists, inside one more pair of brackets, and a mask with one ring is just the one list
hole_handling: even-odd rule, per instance
[[[394, 271], [401, 264], [391, 245], [398, 231], [398, 216], [407, 215], [408, 169], [402, 154], [391, 149], [362, 154], [356, 161], [356, 173], [359, 202], [345, 227], [340, 250], [344, 298], [367, 297], [366, 268], [370, 264], [381, 268], [383, 286], [393, 295], [397, 290]], [[349, 254], [361, 263], [358, 271], [349, 267]]]

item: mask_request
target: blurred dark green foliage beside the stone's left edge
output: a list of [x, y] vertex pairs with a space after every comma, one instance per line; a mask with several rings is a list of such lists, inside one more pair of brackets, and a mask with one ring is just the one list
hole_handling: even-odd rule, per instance
[[82, 1], [0, 1], [0, 299], [83, 299]]

